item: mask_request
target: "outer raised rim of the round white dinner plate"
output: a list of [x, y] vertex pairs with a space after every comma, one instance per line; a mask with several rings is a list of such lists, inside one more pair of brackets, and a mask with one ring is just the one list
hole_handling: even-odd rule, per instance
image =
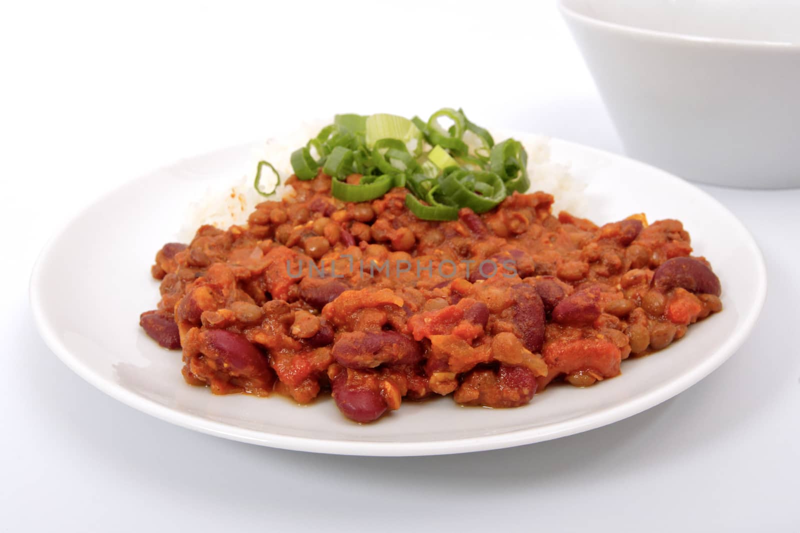
[[[514, 134], [514, 132], [509, 133], [512, 135]], [[539, 133], [516, 133], [523, 136], [541, 135]], [[173, 408], [158, 404], [158, 402], [150, 400], [149, 398], [146, 398], [146, 396], [141, 396], [136, 392], [130, 391], [129, 389], [118, 384], [114, 384], [109, 380], [106, 380], [97, 372], [94, 372], [94, 370], [90, 368], [88, 364], [83, 363], [79, 356], [76, 356], [70, 352], [70, 350], [66, 348], [66, 346], [62, 344], [60, 340], [58, 340], [58, 336], [54, 334], [55, 328], [53, 324], [50, 324], [45, 312], [43, 311], [44, 306], [42, 305], [42, 294], [39, 288], [39, 285], [41, 284], [40, 278], [42, 277], [43, 265], [45, 264], [46, 258], [53, 248], [54, 243], [58, 241], [59, 237], [61, 237], [63, 233], [66, 233], [66, 231], [70, 229], [75, 221], [82, 217], [86, 210], [94, 207], [94, 205], [98, 205], [104, 201], [106, 197], [110, 197], [115, 193], [118, 193], [119, 189], [134, 183], [134, 181], [138, 181], [150, 173], [157, 173], [169, 169], [170, 167], [173, 167], [182, 161], [194, 159], [196, 157], [207, 157], [215, 153], [222, 153], [231, 149], [245, 149], [246, 147], [256, 145], [257, 143], [241, 143], [237, 145], [230, 145], [221, 149], [215, 149], [205, 153], [196, 154], [192, 157], [181, 157], [180, 159], [168, 165], [162, 165], [161, 167], [153, 169], [149, 173], [122, 181], [119, 185], [106, 191], [105, 193], [102, 193], [102, 195], [99, 197], [83, 203], [79, 209], [70, 217], [68, 217], [68, 219], [62, 225], [59, 225], [58, 231], [54, 232], [54, 234], [46, 241], [46, 244], [42, 247], [42, 250], [38, 253], [38, 257], [34, 263], [34, 268], [31, 271], [28, 288], [30, 307], [34, 316], [34, 324], [36, 325], [40, 336], [42, 336], [42, 339], [45, 341], [46, 346], [50, 348], [51, 352], [54, 352], [58, 359], [62, 360], [62, 362], [66, 364], [67, 368], [70, 368], [70, 370], [78, 374], [78, 376], [82, 377], [83, 380], [86, 380], [95, 388], [98, 388], [100, 391], [106, 393], [106, 395], [114, 398], [114, 400], [118, 400], [122, 404], [126, 404], [127, 406], [140, 412], [154, 416], [158, 420], [175, 424], [181, 428], [248, 444], [258, 444], [261, 446], [276, 447], [292, 451], [308, 451], [334, 455], [446, 455], [466, 453], [471, 451], [495, 450], [506, 447], [521, 446], [524, 444], [535, 444], [546, 440], [553, 440], [564, 436], [575, 435], [577, 433], [590, 431], [591, 429], [595, 428], [601, 428], [602, 426], [606, 426], [608, 424], [614, 424], [615, 422], [624, 420], [640, 412], [644, 412], [666, 400], [669, 400], [674, 396], [677, 396], [681, 392], [684, 392], [687, 388], [697, 384], [711, 372], [714, 372], [714, 370], [716, 370], [726, 360], [733, 356], [733, 354], [742, 346], [748, 336], [750, 336], [750, 332], [753, 331], [755, 324], [758, 322], [758, 317], [761, 315], [762, 308], [766, 301], [768, 284], [766, 264], [762, 251], [758, 247], [758, 243], [755, 241], [752, 233], [750, 233], [750, 230], [746, 227], [746, 225], [740, 221], [738, 217], [736, 217], [734, 213], [730, 211], [730, 209], [726, 208], [725, 205], [722, 205], [720, 201], [711, 196], [709, 193], [706, 193], [706, 191], [700, 189], [697, 185], [694, 185], [694, 183], [683, 180], [672, 173], [666, 172], [666, 170], [659, 169], [653, 165], [649, 165], [642, 161], [638, 161], [618, 153], [611, 153], [606, 150], [582, 145], [573, 141], [565, 141], [558, 137], [542, 137], [545, 137], [550, 143], [564, 145], [567, 149], [582, 150], [584, 152], [593, 153], [597, 156], [610, 157], [615, 161], [622, 160], [628, 163], [633, 163], [634, 165], [641, 165], [650, 172], [661, 174], [661, 176], [667, 181], [677, 182], [682, 186], [688, 186], [691, 189], [694, 189], [694, 193], [698, 193], [702, 197], [705, 197], [706, 201], [710, 201], [719, 209], [722, 209], [728, 213], [730, 217], [733, 218], [736, 223], [738, 223], [740, 229], [742, 229], [743, 235], [746, 237], [746, 241], [742, 242], [741, 244], [745, 245], [746, 248], [750, 249], [752, 252], [752, 257], [754, 258], [755, 266], [758, 271], [758, 284], [755, 288], [756, 301], [754, 306], [751, 306], [746, 313], [743, 313], [742, 327], [738, 328], [738, 330], [734, 331], [726, 339], [726, 341], [714, 352], [713, 357], [702, 360], [700, 364], [692, 368], [689, 372], [686, 372], [681, 376], [674, 378], [673, 380], [664, 382], [658, 387], [651, 389], [646, 394], [638, 396], [633, 400], [628, 400], [622, 404], [601, 409], [599, 411], [593, 411], [572, 419], [562, 420], [560, 422], [546, 424], [536, 428], [522, 428], [510, 432], [498, 432], [484, 436], [464, 437], [452, 440], [406, 442], [378, 440], [330, 440], [317, 439], [314, 437], [280, 435], [270, 432], [259, 432], [254, 429], [242, 428], [233, 424], [209, 420], [202, 416], [176, 411]]]

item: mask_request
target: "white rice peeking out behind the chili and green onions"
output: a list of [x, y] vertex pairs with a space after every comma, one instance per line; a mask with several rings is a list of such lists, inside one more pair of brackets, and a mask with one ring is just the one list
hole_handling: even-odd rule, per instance
[[[214, 225], [220, 229], [227, 229], [230, 225], [244, 225], [255, 206], [262, 201], [279, 200], [293, 193], [293, 189], [285, 185], [286, 179], [292, 175], [291, 153], [299, 146], [306, 145], [311, 137], [316, 136], [319, 130], [330, 122], [330, 120], [306, 122], [294, 132], [279, 138], [270, 138], [259, 149], [254, 150], [253, 163], [250, 165], [253, 170], [250, 173], [242, 176], [239, 181], [209, 187], [198, 197], [198, 201], [190, 204], [186, 217], [183, 218], [186, 224], [179, 235], [181, 240], [190, 241], [198, 227], [204, 224]], [[495, 138], [506, 137], [508, 135], [498, 134]], [[555, 197], [553, 213], [562, 210], [579, 213], [585, 205], [583, 189], [586, 185], [576, 181], [566, 165], [550, 161], [550, 144], [547, 137], [515, 133], [514, 138], [522, 141], [528, 153], [530, 191], [541, 190], [552, 194]], [[278, 192], [274, 196], [262, 197], [253, 187], [258, 161], [270, 161], [281, 176], [281, 185], [278, 186]], [[274, 183], [273, 176], [268, 168], [265, 167], [264, 170], [266, 172], [262, 172], [262, 188], [270, 189]]]

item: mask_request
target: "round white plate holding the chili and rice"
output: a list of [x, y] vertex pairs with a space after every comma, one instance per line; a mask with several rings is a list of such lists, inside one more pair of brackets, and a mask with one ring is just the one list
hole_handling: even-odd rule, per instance
[[[766, 295], [762, 255], [745, 227], [693, 185], [661, 170], [566, 141], [554, 161], [587, 181], [595, 222], [647, 213], [678, 218], [722, 281], [723, 312], [689, 328], [654, 356], [628, 360], [622, 376], [586, 389], [553, 386], [515, 409], [462, 408], [451, 398], [406, 402], [376, 424], [359, 425], [330, 398], [300, 407], [280, 396], [213, 396], [190, 387], [180, 352], [138, 327], [158, 300], [154, 253], [180, 228], [187, 202], [216, 180], [251, 170], [253, 145], [178, 162], [123, 185], [79, 213], [43, 250], [30, 300], [47, 345], [110, 396], [174, 424], [227, 439], [347, 455], [435, 455], [530, 444], [584, 432], [642, 412], [717, 368], [753, 328]], [[188, 191], [188, 192], [187, 192]]]

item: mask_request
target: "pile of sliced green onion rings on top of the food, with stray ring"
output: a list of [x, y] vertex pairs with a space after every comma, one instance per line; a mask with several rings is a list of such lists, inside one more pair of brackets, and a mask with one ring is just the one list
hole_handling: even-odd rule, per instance
[[[470, 148], [470, 139], [464, 138], [468, 132], [473, 145], [480, 141], [480, 146]], [[406, 206], [426, 221], [456, 220], [458, 209], [465, 207], [486, 213], [514, 191], [526, 192], [527, 164], [521, 142], [506, 139], [494, 144], [491, 134], [471, 122], [462, 109], [448, 107], [428, 121], [386, 113], [339, 114], [291, 155], [298, 179], [313, 180], [320, 172], [330, 176], [330, 193], [339, 200], [370, 201], [405, 187]], [[263, 165], [278, 177], [270, 193], [258, 186]], [[347, 183], [354, 173], [361, 174], [358, 183]], [[274, 194], [280, 182], [272, 165], [258, 163], [259, 194]]]

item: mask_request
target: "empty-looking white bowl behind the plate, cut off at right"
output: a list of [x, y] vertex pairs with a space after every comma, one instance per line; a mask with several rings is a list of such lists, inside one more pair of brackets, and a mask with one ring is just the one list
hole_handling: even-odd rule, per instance
[[559, 4], [626, 153], [714, 185], [800, 186], [800, 2]]

